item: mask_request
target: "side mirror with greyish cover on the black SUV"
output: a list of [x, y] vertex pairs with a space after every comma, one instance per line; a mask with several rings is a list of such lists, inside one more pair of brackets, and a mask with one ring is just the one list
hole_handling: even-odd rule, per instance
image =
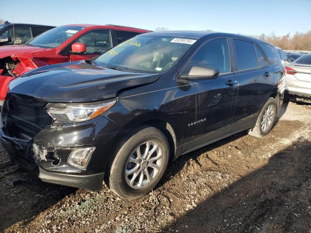
[[181, 75], [183, 80], [201, 80], [201, 79], [216, 79], [219, 75], [219, 70], [210, 67], [192, 67], [189, 74]]

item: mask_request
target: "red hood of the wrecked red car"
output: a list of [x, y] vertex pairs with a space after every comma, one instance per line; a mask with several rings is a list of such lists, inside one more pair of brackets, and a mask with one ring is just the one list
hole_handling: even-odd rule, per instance
[[38, 48], [30, 45], [7, 45], [0, 47], [0, 58], [8, 57], [11, 55], [23, 55], [28, 52], [39, 52], [46, 50], [45, 48]]

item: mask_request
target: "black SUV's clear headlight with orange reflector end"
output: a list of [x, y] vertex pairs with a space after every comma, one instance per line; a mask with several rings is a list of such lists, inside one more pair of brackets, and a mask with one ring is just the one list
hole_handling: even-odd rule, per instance
[[117, 100], [106, 100], [96, 103], [48, 103], [48, 113], [53, 117], [56, 124], [80, 122], [93, 119], [101, 115]]

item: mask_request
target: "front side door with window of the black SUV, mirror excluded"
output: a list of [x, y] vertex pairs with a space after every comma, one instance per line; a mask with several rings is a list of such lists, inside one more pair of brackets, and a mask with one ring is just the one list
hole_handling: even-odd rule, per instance
[[230, 63], [229, 40], [217, 38], [204, 44], [190, 59], [182, 73], [189, 73], [191, 67], [211, 67], [219, 70], [215, 79], [196, 81], [198, 117], [190, 122], [193, 141], [183, 150], [200, 146], [229, 133], [233, 109], [238, 93], [238, 82]]

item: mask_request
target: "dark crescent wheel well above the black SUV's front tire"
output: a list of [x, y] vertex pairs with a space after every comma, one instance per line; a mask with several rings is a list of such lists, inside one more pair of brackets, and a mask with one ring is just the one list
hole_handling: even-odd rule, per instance
[[148, 120], [142, 124], [153, 126], [165, 134], [170, 145], [170, 160], [173, 160], [176, 152], [176, 136], [173, 127], [164, 120]]

